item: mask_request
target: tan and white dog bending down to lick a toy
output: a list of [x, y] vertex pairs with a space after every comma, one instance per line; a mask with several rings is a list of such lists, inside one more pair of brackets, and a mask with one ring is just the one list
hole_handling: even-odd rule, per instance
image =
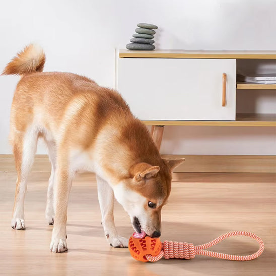
[[52, 252], [67, 250], [68, 196], [78, 170], [96, 174], [102, 226], [111, 246], [128, 246], [114, 225], [114, 197], [136, 233], [159, 237], [172, 170], [184, 160], [161, 158], [147, 127], [132, 115], [119, 93], [79, 75], [44, 73], [44, 63], [42, 48], [30, 44], [2, 74], [21, 76], [9, 137], [18, 174], [12, 228], [25, 229], [27, 178], [42, 137], [51, 163], [45, 214], [53, 225]]

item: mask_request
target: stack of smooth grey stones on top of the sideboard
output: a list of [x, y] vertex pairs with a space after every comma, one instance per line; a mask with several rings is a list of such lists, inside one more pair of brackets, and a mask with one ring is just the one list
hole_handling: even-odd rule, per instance
[[136, 34], [132, 36], [134, 38], [130, 39], [130, 42], [125, 45], [128, 50], [154, 50], [155, 46], [153, 45], [155, 29], [158, 27], [153, 24], [148, 23], [139, 23], [135, 29]]

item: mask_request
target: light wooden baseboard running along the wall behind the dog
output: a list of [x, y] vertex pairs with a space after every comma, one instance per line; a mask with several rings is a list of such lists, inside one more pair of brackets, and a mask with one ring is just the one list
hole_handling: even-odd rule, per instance
[[[175, 172], [207, 173], [276, 173], [274, 155], [163, 155], [165, 158], [185, 158]], [[36, 155], [32, 172], [49, 172], [47, 155]], [[0, 172], [15, 172], [13, 155], [0, 155]]]

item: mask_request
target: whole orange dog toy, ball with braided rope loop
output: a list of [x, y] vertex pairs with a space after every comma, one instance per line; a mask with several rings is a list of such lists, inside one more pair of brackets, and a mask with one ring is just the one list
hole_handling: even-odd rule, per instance
[[[135, 233], [133, 233], [133, 235], [135, 236]], [[230, 255], [204, 250], [232, 236], [246, 236], [256, 240], [259, 243], [259, 250], [254, 254], [245, 256]], [[192, 259], [195, 257], [195, 255], [204, 255], [233, 261], [249, 261], [260, 256], [260, 254], [263, 252], [264, 244], [263, 241], [253, 233], [247, 231], [233, 231], [221, 235], [211, 242], [196, 246], [194, 246], [192, 243], [186, 242], [164, 241], [162, 243], [159, 238], [156, 239], [149, 236], [143, 238], [134, 238], [131, 236], [128, 242], [128, 249], [134, 259], [143, 262], [155, 262], [160, 260], [163, 256], [165, 259]]]

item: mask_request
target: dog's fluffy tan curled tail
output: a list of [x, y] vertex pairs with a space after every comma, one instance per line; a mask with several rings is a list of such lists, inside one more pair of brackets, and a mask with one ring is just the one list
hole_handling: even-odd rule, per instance
[[45, 53], [36, 44], [30, 44], [19, 52], [6, 66], [2, 75], [24, 75], [26, 73], [42, 72], [45, 63]]

